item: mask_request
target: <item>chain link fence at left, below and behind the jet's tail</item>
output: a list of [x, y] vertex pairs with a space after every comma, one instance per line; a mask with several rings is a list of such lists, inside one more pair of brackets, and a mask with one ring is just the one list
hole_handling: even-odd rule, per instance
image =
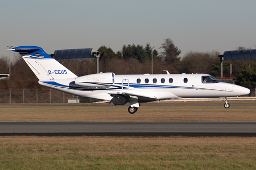
[[97, 99], [78, 97], [54, 89], [0, 90], [0, 103], [92, 103]]

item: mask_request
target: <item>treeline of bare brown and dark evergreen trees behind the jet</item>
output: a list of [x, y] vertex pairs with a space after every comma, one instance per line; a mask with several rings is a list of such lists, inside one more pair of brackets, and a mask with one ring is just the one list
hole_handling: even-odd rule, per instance
[[[158, 53], [157, 49], [161, 49]], [[238, 47], [236, 49], [245, 49]], [[153, 48], [148, 43], [142, 45], [123, 45], [122, 49], [114, 52], [110, 47], [101, 46], [100, 72], [115, 74], [151, 74], [151, 57], [153, 56], [154, 74], [164, 74], [163, 70], [175, 73], [206, 73], [220, 77], [220, 52], [187, 52], [182, 58], [181, 50], [174, 45], [170, 38], [164, 40], [161, 47]], [[13, 53], [14, 54], [14, 53]], [[12, 54], [12, 55], [13, 55]], [[45, 88], [38, 84], [35, 74], [29, 69], [18, 53], [11, 64], [11, 77], [1, 80], [0, 89]], [[59, 60], [78, 77], [97, 73], [96, 59]], [[231, 77], [242, 86], [256, 86], [256, 64], [252, 60], [237, 60], [223, 62], [223, 77], [230, 77], [229, 64], [232, 64]], [[250, 65], [250, 66], [249, 66]], [[0, 58], [0, 73], [9, 73], [9, 57]], [[247, 75], [250, 75], [249, 77]]]

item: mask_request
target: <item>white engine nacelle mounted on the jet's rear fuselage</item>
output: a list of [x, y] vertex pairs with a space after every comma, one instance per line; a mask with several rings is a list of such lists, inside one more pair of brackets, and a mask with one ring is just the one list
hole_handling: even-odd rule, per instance
[[75, 84], [88, 88], [107, 88], [115, 83], [114, 73], [89, 74], [75, 79]]

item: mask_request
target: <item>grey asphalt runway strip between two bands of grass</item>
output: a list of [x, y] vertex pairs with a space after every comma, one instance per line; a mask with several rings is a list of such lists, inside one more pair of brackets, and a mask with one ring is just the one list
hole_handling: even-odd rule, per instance
[[0, 122], [0, 135], [256, 137], [256, 122]]

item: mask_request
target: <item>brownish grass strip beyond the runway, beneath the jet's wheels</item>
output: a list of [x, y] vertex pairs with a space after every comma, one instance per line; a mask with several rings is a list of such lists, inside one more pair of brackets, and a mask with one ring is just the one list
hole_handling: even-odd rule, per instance
[[[179, 122], [179, 121], [256, 121], [256, 101], [249, 106], [225, 109], [223, 102], [145, 104], [129, 114], [125, 106], [102, 104], [52, 107], [1, 107], [0, 122]], [[248, 104], [241, 101], [239, 104]], [[105, 104], [106, 105], [106, 104]]]

